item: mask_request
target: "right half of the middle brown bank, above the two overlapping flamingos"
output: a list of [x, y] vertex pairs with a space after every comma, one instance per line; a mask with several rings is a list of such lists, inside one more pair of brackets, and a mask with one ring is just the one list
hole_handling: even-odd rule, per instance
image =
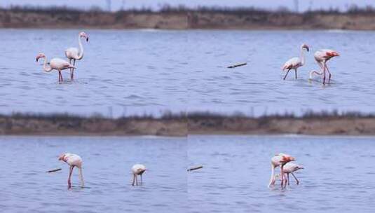
[[375, 118], [189, 119], [189, 133], [203, 135], [375, 135]]

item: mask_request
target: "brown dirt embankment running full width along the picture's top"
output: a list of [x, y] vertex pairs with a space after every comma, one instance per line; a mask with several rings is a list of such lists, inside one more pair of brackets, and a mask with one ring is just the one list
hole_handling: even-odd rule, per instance
[[368, 13], [275, 11], [69, 11], [69, 9], [0, 9], [3, 28], [94, 29], [375, 29]]

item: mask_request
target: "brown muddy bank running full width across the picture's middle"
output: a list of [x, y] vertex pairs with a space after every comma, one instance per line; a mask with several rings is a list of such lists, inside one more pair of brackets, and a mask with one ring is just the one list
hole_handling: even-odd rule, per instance
[[375, 135], [375, 117], [350, 115], [221, 116], [184, 114], [153, 118], [67, 114], [0, 116], [0, 135]]

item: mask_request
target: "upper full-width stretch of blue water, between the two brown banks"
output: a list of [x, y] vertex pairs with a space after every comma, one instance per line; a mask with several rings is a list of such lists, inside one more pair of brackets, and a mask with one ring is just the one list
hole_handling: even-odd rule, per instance
[[[342, 31], [158, 31], [87, 30], [85, 56], [76, 80], [57, 83], [44, 73], [37, 53], [64, 57], [78, 46], [77, 30], [1, 29], [0, 106], [4, 111], [103, 111], [107, 106], [245, 111], [355, 109], [372, 111], [375, 90], [375, 32]], [[282, 81], [280, 67], [311, 46], [299, 79]], [[315, 50], [333, 48], [331, 85], [308, 81], [317, 69]], [[226, 66], [247, 62], [247, 66]], [[7, 108], [8, 107], [8, 108]], [[23, 108], [22, 108], [23, 107]], [[142, 108], [146, 107], [146, 108]], [[148, 107], [148, 108], [147, 108]]]

